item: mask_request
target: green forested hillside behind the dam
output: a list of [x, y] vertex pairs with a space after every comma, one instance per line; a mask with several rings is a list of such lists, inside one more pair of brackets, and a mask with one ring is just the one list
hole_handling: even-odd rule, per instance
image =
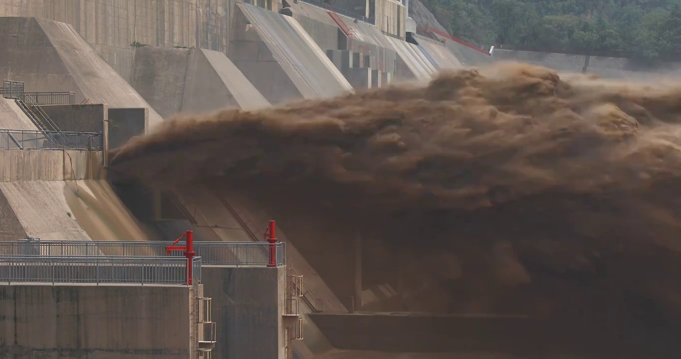
[[679, 0], [423, 0], [473, 44], [569, 54], [681, 59]]

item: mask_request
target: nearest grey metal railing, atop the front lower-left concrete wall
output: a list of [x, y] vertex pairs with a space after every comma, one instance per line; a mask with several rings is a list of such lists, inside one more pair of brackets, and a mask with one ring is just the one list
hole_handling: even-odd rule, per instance
[[[201, 258], [193, 260], [201, 281]], [[187, 259], [174, 257], [0, 256], [0, 282], [185, 284]]]

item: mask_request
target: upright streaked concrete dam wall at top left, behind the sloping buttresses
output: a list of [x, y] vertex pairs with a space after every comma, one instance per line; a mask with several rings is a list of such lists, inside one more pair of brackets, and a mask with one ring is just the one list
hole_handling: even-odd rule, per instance
[[134, 41], [225, 52], [232, 0], [5, 0], [0, 16], [71, 24], [116, 72], [128, 78]]

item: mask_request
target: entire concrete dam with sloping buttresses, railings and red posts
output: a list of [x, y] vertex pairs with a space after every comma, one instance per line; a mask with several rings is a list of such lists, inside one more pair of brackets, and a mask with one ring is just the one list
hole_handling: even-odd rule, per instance
[[240, 188], [161, 188], [110, 167], [175, 116], [424, 84], [495, 60], [409, 29], [408, 3], [2, 1], [0, 356], [649, 353], [569, 315], [449, 313], [433, 274], [454, 271], [446, 254], [396, 264], [380, 243]]

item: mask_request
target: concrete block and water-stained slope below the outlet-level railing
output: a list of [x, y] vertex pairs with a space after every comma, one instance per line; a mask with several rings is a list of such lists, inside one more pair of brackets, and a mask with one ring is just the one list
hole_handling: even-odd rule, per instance
[[[101, 152], [0, 151], [3, 237], [150, 240], [110, 185], [98, 180]], [[16, 221], [13, 219], [16, 218]], [[16, 226], [18, 225], [20, 228]]]

